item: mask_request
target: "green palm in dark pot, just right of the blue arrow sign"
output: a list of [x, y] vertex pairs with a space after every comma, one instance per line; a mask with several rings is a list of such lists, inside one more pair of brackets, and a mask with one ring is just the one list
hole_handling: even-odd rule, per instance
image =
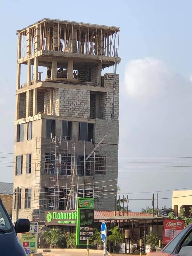
[[113, 229], [110, 229], [109, 231], [112, 233], [109, 236], [109, 240], [111, 243], [113, 243], [113, 252], [119, 253], [120, 246], [119, 243], [123, 243], [123, 234], [118, 230], [118, 226], [115, 226]]

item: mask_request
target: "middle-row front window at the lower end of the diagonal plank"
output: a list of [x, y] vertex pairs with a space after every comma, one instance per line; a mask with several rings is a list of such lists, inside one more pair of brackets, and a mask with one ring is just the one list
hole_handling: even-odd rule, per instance
[[[85, 156], [85, 158], [87, 155]], [[77, 155], [77, 175], [84, 175], [84, 155]], [[85, 160], [85, 176], [93, 176], [94, 175], [94, 159], [90, 157]]]

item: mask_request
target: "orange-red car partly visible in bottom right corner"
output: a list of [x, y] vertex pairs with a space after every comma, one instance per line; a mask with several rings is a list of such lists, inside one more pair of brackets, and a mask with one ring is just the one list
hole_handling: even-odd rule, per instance
[[192, 256], [192, 224], [183, 229], [161, 252], [147, 253], [147, 256]]

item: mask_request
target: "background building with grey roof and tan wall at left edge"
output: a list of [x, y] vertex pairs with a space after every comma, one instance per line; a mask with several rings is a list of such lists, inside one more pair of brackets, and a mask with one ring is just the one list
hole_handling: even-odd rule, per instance
[[13, 205], [13, 183], [0, 182], [0, 197], [8, 213], [12, 211]]

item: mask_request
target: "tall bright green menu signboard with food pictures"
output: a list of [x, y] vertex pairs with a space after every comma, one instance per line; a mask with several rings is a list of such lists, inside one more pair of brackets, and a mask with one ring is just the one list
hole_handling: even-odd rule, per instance
[[94, 198], [77, 198], [77, 231], [76, 245], [90, 244], [93, 238], [94, 227]]

